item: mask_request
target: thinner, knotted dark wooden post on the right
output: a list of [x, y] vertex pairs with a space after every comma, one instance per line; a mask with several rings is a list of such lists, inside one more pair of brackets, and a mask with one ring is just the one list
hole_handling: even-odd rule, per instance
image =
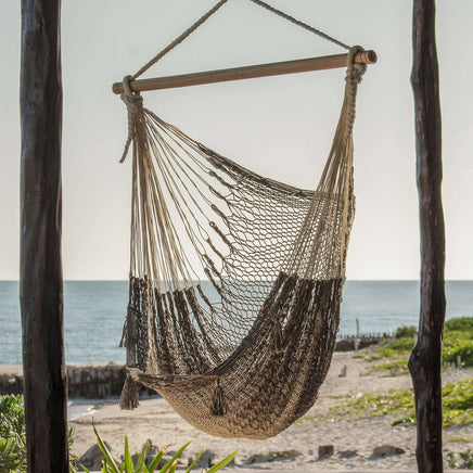
[[422, 473], [443, 472], [442, 338], [445, 321], [445, 229], [442, 208], [442, 118], [435, 44], [435, 0], [413, 0], [417, 182], [421, 235], [421, 307], [418, 343], [409, 359]]

